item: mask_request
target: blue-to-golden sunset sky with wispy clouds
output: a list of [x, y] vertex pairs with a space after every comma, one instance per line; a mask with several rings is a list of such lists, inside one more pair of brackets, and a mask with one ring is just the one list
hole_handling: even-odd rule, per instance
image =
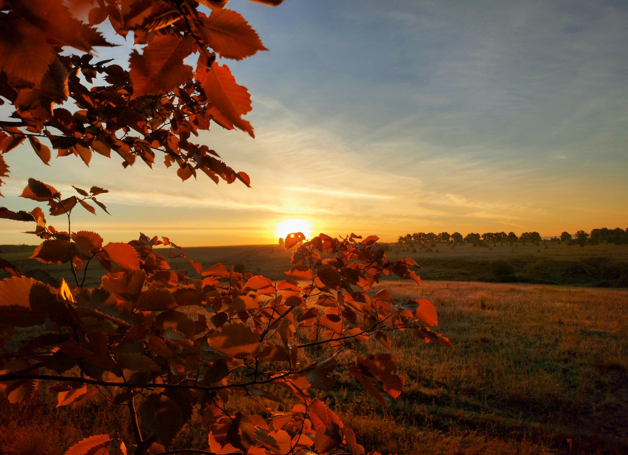
[[[229, 7], [270, 50], [222, 62], [252, 95], [256, 138], [213, 126], [201, 141], [247, 172], [252, 189], [203, 175], [181, 182], [163, 158], [153, 170], [99, 155], [89, 168], [73, 156], [46, 167], [23, 146], [6, 155], [0, 205], [35, 207], [17, 197], [28, 177], [67, 196], [70, 184], [99, 185], [112, 216], [77, 213], [77, 229], [185, 246], [276, 243], [278, 224], [295, 218], [313, 233], [384, 241], [628, 227], [624, 0]], [[29, 228], [0, 221], [0, 243], [37, 243], [19, 233]]]

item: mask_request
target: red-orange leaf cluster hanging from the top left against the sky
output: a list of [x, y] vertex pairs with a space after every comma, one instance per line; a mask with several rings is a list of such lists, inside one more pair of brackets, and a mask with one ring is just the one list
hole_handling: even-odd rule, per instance
[[[152, 167], [160, 154], [182, 180], [200, 171], [216, 183], [250, 185], [246, 173], [195, 138], [212, 122], [253, 136], [242, 118], [251, 97], [216, 58], [241, 60], [266, 48], [241, 14], [224, 8], [226, 1], [200, 3], [211, 13], [193, 0], [3, 0], [0, 97], [14, 107], [14, 120], [0, 122], [0, 185], [9, 173], [2, 155], [27, 138], [46, 164], [50, 148], [86, 165], [94, 152], [113, 152], [124, 167], [138, 158]], [[85, 6], [93, 7], [87, 17], [73, 14]], [[106, 21], [117, 35], [133, 32], [134, 45], [143, 46], [131, 52], [128, 70], [112, 60], [94, 62], [95, 48], [112, 46], [98, 30]], [[80, 53], [67, 55], [67, 48]], [[184, 63], [191, 58], [195, 67]]]

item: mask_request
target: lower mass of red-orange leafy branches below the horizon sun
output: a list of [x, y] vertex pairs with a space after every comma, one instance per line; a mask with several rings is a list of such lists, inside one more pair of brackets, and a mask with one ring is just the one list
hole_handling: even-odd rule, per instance
[[[106, 190], [76, 189], [79, 202]], [[355, 441], [325, 403], [313, 395], [327, 390], [333, 373], [345, 369], [382, 405], [397, 398], [404, 384], [389, 353], [360, 354], [354, 344], [374, 337], [391, 347], [389, 331], [411, 330], [425, 341], [450, 346], [431, 331], [438, 319], [423, 299], [397, 303], [383, 289], [371, 289], [382, 275], [420, 278], [407, 258], [388, 261], [376, 236], [303, 241], [290, 234], [285, 248], [291, 279], [272, 282], [244, 276], [222, 264], [202, 269], [168, 238], [141, 235], [129, 243], [104, 244], [90, 231], [70, 230], [62, 195], [30, 179], [23, 197], [48, 200], [50, 213], [67, 215], [68, 231], [46, 225], [43, 211], [33, 233], [45, 239], [33, 258], [69, 263], [75, 283], [60, 287], [13, 275], [0, 282], [0, 329], [4, 352], [0, 381], [9, 402], [33, 396], [39, 381], [53, 381], [58, 405], [80, 405], [97, 394], [127, 407], [136, 454], [160, 453], [197, 408], [208, 427], [208, 451], [216, 454], [330, 453], [343, 447], [354, 455]], [[87, 208], [87, 207], [85, 207]], [[204, 278], [171, 270], [154, 246], [170, 246], [170, 257], [185, 257]], [[176, 253], [176, 251], [179, 251]], [[94, 258], [109, 270], [102, 286], [82, 288], [78, 277]], [[305, 283], [303, 283], [305, 282]], [[354, 290], [359, 289], [359, 290]], [[200, 307], [196, 319], [185, 312]], [[306, 340], [306, 341], [302, 341]], [[324, 348], [324, 349], [321, 349]], [[283, 387], [300, 402], [276, 412], [266, 400]], [[259, 405], [261, 414], [230, 409], [239, 394]], [[117, 436], [95, 435], [68, 454], [125, 452]]]

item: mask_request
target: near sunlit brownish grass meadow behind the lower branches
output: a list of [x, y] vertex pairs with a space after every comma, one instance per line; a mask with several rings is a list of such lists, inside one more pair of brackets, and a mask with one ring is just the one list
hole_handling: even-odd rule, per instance
[[[192, 253], [192, 252], [190, 252]], [[282, 253], [284, 254], [284, 253]], [[360, 441], [399, 454], [628, 453], [628, 290], [503, 283], [388, 282], [394, 297], [438, 310], [456, 351], [396, 334], [406, 388], [389, 410], [341, 372], [326, 397]], [[364, 346], [381, 351], [382, 346]], [[87, 434], [116, 434], [107, 402], [55, 408], [0, 398], [0, 452], [62, 454]], [[126, 436], [127, 439], [129, 435]], [[203, 447], [200, 424], [173, 447]]]

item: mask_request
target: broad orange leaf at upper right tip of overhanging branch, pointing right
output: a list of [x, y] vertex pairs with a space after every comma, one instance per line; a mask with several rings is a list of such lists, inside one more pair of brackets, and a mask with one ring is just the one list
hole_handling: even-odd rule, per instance
[[220, 57], [242, 60], [267, 50], [255, 30], [232, 9], [214, 9], [202, 23], [203, 37]]

